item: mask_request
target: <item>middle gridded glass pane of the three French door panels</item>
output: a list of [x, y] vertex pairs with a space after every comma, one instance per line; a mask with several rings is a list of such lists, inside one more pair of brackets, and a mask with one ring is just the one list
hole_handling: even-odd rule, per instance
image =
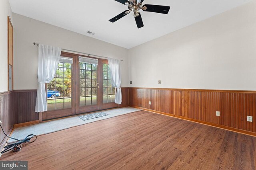
[[80, 62], [80, 106], [97, 104], [97, 64]]

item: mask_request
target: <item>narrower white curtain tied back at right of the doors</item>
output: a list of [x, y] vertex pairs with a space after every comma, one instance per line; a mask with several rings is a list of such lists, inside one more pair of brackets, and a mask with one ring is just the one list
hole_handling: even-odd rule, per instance
[[116, 104], [122, 103], [122, 93], [121, 93], [121, 68], [120, 60], [108, 58], [108, 64], [110, 68], [110, 73], [112, 76], [112, 85], [116, 88]]

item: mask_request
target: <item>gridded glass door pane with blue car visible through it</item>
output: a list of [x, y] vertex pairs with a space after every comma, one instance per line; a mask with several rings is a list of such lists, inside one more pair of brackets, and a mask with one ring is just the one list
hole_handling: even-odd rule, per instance
[[72, 64], [58, 64], [54, 79], [47, 84], [48, 110], [71, 108]]

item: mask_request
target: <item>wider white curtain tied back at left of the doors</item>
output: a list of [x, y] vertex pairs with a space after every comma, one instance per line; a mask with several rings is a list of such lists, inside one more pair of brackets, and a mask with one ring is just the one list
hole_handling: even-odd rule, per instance
[[50, 83], [60, 61], [61, 48], [38, 45], [38, 88], [35, 112], [47, 111], [45, 83]]

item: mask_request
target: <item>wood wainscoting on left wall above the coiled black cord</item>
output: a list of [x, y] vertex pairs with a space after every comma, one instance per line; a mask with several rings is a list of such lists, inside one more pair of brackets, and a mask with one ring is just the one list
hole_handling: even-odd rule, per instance
[[[13, 91], [0, 92], [0, 120], [1, 125], [7, 133], [10, 135], [13, 125], [13, 107], [12, 107]], [[2, 149], [7, 141], [7, 137], [4, 135], [2, 129], [0, 129], [0, 149]]]

